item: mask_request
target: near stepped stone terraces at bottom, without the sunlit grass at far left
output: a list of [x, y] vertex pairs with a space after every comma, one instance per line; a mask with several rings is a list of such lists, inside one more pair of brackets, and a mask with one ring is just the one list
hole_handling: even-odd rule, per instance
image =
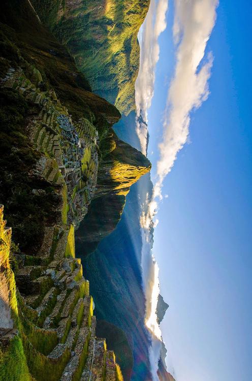
[[[3, 214], [3, 208], [0, 213]], [[48, 232], [49, 229], [45, 233], [45, 240], [48, 240]], [[18, 314], [30, 373], [37, 381], [116, 380], [114, 355], [106, 350], [105, 339], [96, 337], [96, 318], [93, 316], [89, 282], [82, 276], [82, 265], [75, 258], [74, 249], [72, 256], [69, 252], [68, 245], [74, 247], [74, 243], [70, 242], [74, 237], [70, 228], [67, 229], [64, 246], [60, 242], [59, 227], [53, 227], [53, 232], [53, 236], [49, 234], [53, 247], [46, 255], [40, 257], [41, 252], [36, 257], [16, 255], [19, 263], [15, 276], [19, 290]], [[60, 243], [62, 255], [59, 258], [56, 252]], [[42, 248], [47, 246], [48, 242]], [[36, 265], [31, 264], [33, 260]], [[6, 304], [8, 306], [8, 300]], [[1, 328], [6, 328], [2, 312], [0, 315], [3, 319], [0, 322], [3, 321], [5, 327], [0, 327], [0, 332]], [[11, 325], [8, 328], [12, 329], [10, 312], [9, 322]], [[38, 359], [43, 359], [44, 372], [38, 372], [34, 365]], [[60, 370], [56, 378], [53, 371], [46, 372], [50, 366]]]

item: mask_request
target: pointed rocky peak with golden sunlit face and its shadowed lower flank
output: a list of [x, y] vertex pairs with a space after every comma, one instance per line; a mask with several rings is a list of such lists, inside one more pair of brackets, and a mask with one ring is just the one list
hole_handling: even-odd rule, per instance
[[96, 193], [76, 232], [82, 255], [96, 249], [115, 229], [131, 185], [150, 170], [147, 158], [119, 140], [115, 133], [110, 133], [104, 145], [106, 153], [99, 164]]

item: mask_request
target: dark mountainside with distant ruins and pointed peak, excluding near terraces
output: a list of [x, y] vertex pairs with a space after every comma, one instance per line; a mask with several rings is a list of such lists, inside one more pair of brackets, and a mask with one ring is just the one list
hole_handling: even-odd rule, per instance
[[[5, 6], [2, 3], [1, 7], [1, 17], [6, 24], [2, 24], [3, 58], [0, 61], [0, 74], [4, 79], [1, 102], [5, 110], [1, 114], [4, 154], [0, 167], [5, 187], [1, 188], [0, 196], [8, 220], [17, 227], [14, 240], [22, 247], [28, 241], [36, 241], [34, 238], [39, 242], [41, 226], [46, 220], [55, 222], [60, 217], [55, 210], [59, 209], [58, 203], [64, 205], [64, 221], [78, 226], [96, 181], [101, 189], [105, 178], [109, 183], [105, 187], [107, 192], [95, 196], [102, 200], [109, 193], [114, 194], [117, 211], [112, 218], [107, 215], [104, 223], [106, 228], [106, 221], [112, 221], [115, 227], [125, 194], [134, 181], [149, 171], [149, 161], [113, 134], [111, 126], [119, 119], [118, 110], [88, 91], [89, 85], [77, 71], [73, 59], [39, 23], [29, 3], [13, 0]], [[9, 104], [15, 111], [11, 121]], [[21, 105], [20, 109], [17, 105]], [[98, 161], [104, 171], [97, 174]], [[109, 166], [105, 168], [103, 162], [108, 161]], [[37, 166], [41, 173], [29, 174], [31, 166]], [[118, 175], [121, 168], [127, 181], [123, 174]], [[10, 169], [14, 172], [12, 177], [8, 175]], [[20, 189], [20, 183], [27, 189]], [[42, 192], [33, 189], [42, 189]], [[14, 200], [7, 203], [10, 192]], [[15, 213], [17, 204], [22, 218]], [[34, 231], [38, 232], [37, 236]]]

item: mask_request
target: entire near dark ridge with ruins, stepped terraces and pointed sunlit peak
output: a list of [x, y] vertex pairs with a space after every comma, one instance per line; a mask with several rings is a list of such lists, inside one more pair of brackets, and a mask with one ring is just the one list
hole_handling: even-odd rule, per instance
[[74, 227], [94, 195], [113, 193], [121, 211], [150, 164], [112, 132], [118, 110], [90, 92], [28, 0], [2, 2], [0, 21], [0, 201], [15, 242], [1, 207], [0, 378], [120, 381], [96, 337]]

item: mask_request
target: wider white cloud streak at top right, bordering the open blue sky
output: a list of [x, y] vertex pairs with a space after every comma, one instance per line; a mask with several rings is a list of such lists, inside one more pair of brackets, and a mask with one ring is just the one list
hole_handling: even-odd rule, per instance
[[209, 94], [213, 58], [211, 53], [205, 57], [205, 50], [215, 23], [217, 4], [218, 0], [175, 0], [176, 67], [168, 91], [154, 198], [162, 197], [164, 178], [188, 138], [190, 113], [199, 108]]

